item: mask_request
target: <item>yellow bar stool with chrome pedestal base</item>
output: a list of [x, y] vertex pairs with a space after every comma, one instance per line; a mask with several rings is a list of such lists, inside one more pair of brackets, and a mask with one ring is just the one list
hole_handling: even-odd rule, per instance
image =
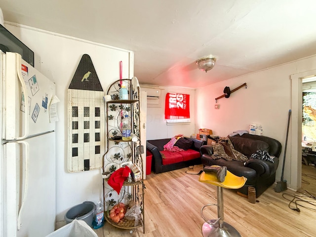
[[[217, 166], [217, 165], [212, 165]], [[241, 237], [239, 232], [230, 224], [224, 222], [224, 202], [223, 202], [223, 188], [226, 189], [239, 189], [247, 181], [245, 177], [238, 177], [227, 170], [227, 175], [224, 182], [217, 180], [215, 173], [205, 173], [204, 171], [200, 174], [199, 182], [208, 183], [217, 186], [217, 204], [207, 204], [201, 208], [201, 216], [204, 219], [202, 226], [203, 237]], [[203, 216], [203, 209], [206, 206], [216, 205], [217, 206], [217, 217], [218, 219], [206, 220]]]

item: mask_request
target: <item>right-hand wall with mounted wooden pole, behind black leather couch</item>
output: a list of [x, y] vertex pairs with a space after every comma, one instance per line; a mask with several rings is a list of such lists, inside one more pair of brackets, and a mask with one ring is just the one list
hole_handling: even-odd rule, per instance
[[[313, 69], [316, 69], [316, 56], [198, 88], [196, 92], [196, 128], [210, 128], [213, 130], [213, 134], [227, 136], [235, 130], [248, 130], [249, 123], [261, 124], [264, 130], [263, 135], [275, 138], [282, 144], [280, 163], [276, 172], [276, 180], [280, 180], [288, 111], [291, 109], [290, 76]], [[220, 109], [214, 109], [215, 98], [223, 94], [225, 86], [229, 86], [233, 90], [244, 82], [247, 83], [246, 89], [242, 87], [232, 93], [229, 98], [219, 99]], [[292, 118], [293, 116], [297, 118], [301, 115], [292, 114]], [[291, 139], [297, 140], [298, 137], [291, 137], [290, 126], [284, 180], [287, 180], [288, 187], [296, 189], [295, 180], [293, 180], [293, 186], [291, 185], [293, 175], [291, 165], [295, 164], [296, 167], [297, 159], [300, 158], [297, 157], [297, 154], [291, 155]]]

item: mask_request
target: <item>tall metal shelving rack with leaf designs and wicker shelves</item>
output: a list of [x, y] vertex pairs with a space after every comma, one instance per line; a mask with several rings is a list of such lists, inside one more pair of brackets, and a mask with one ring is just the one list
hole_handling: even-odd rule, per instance
[[[128, 89], [129, 100], [119, 100], [119, 89], [121, 85], [125, 85]], [[135, 229], [143, 227], [144, 223], [144, 189], [143, 182], [143, 160], [141, 157], [141, 142], [140, 142], [140, 106], [139, 96], [140, 87], [136, 78], [121, 79], [112, 83], [107, 92], [111, 95], [111, 100], [106, 101], [106, 128], [107, 128], [107, 148], [103, 156], [103, 172], [115, 172], [121, 167], [121, 164], [127, 161], [132, 161], [141, 170], [141, 180], [128, 183], [125, 181], [119, 192], [114, 191], [108, 185], [108, 179], [103, 179], [103, 197], [104, 206], [108, 207], [108, 211], [119, 202], [128, 204], [130, 200], [134, 200], [141, 209], [140, 221], [135, 223], [134, 220], [122, 219], [118, 223], [114, 223], [109, 218], [109, 212], [106, 211], [105, 218], [111, 224], [121, 229]], [[128, 115], [131, 118], [132, 133], [135, 138], [132, 140], [121, 139], [121, 119]]]

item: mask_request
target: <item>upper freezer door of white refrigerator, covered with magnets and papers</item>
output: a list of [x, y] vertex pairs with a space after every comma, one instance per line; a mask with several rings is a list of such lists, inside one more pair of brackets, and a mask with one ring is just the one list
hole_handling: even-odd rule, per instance
[[[17, 53], [7, 52], [3, 80], [3, 129], [5, 140], [55, 130], [49, 120], [49, 105], [55, 83], [43, 76]], [[2, 64], [3, 65], [3, 64]]]

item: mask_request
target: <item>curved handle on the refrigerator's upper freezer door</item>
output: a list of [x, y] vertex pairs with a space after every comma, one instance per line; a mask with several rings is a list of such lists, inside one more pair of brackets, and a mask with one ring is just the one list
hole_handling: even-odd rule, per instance
[[21, 137], [17, 137], [14, 140], [22, 140], [25, 139], [28, 134], [29, 134], [29, 97], [28, 97], [28, 91], [24, 82], [24, 79], [22, 77], [22, 73], [21, 73], [21, 67], [22, 67], [22, 59], [21, 59], [21, 55], [15, 53], [15, 56], [17, 57], [17, 63], [16, 63], [16, 72], [18, 75], [18, 78], [20, 80], [21, 86], [22, 86], [22, 91], [24, 93], [24, 102], [25, 102], [25, 126], [24, 126], [24, 135], [22, 134]]

